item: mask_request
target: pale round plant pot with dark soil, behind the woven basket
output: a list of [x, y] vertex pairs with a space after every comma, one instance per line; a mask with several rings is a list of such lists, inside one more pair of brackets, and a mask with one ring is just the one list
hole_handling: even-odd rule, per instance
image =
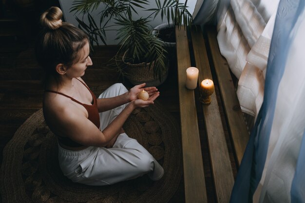
[[152, 33], [157, 35], [166, 47], [176, 47], [175, 29], [172, 23], [163, 23], [156, 26]]

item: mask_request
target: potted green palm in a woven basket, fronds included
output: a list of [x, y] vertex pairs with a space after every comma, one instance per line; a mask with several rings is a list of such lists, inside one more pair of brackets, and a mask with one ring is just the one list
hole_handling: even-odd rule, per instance
[[[87, 16], [87, 23], [83, 18], [76, 20], [79, 27], [88, 33], [91, 43], [100, 39], [106, 44], [107, 31], [116, 30], [120, 48], [112, 64], [133, 84], [146, 82], [147, 86], [158, 86], [168, 74], [167, 51], [158, 34], [152, 32], [149, 22], [160, 14], [169, 21], [175, 19], [178, 24], [187, 12], [180, 9], [182, 5], [178, 0], [165, 0], [162, 5], [156, 0], [156, 3], [157, 8], [146, 9], [149, 0], [74, 0], [71, 12]], [[103, 9], [100, 9], [101, 5]], [[149, 15], [135, 19], [133, 15], [138, 15], [136, 10], [139, 8], [148, 11]], [[96, 23], [91, 12], [99, 9], [100, 19]], [[114, 25], [110, 25], [110, 21]]]

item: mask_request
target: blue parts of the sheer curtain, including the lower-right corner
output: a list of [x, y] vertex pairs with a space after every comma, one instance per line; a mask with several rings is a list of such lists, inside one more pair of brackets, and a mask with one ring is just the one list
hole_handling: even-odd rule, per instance
[[[274, 25], [267, 64], [265, 93], [262, 107], [251, 132], [230, 203], [252, 203], [253, 194], [261, 180], [269, 136], [272, 128], [279, 83], [285, 71], [291, 31], [304, 11], [305, 0], [281, 0]], [[302, 153], [303, 152], [303, 153]], [[291, 201], [304, 202], [305, 197], [305, 141], [300, 150], [297, 170], [291, 189]], [[300, 199], [301, 198], [301, 199]]]

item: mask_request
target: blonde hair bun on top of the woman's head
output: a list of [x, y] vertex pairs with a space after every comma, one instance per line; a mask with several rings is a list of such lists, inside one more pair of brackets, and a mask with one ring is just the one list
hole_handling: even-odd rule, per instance
[[40, 17], [40, 24], [51, 30], [56, 30], [62, 25], [62, 11], [60, 8], [53, 6], [46, 10]]

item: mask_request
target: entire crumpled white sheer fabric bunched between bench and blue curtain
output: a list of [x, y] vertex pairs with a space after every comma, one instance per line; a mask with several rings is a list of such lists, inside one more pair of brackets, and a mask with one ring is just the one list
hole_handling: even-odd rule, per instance
[[220, 52], [239, 80], [241, 109], [252, 116], [257, 115], [263, 102], [264, 74], [278, 2], [197, 0], [193, 13], [195, 24], [217, 24]]

